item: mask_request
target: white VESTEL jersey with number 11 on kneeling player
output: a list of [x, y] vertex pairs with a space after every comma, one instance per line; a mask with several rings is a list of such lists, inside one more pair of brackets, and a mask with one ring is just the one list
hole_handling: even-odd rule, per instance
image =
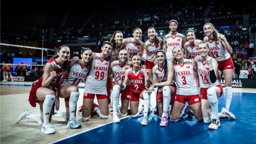
[[88, 72], [88, 67], [82, 67], [80, 62], [74, 63], [68, 73], [65, 73], [64, 81], [60, 86], [78, 86]]

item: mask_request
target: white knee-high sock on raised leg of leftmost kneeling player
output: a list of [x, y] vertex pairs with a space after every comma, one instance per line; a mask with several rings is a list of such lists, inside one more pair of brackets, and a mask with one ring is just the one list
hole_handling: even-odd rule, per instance
[[55, 95], [46, 95], [43, 103], [44, 124], [49, 123], [51, 110], [55, 101]]

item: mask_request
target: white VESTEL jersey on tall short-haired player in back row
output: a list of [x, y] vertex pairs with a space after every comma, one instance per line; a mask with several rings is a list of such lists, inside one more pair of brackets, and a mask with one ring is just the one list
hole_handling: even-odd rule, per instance
[[180, 47], [182, 49], [182, 36], [183, 34], [177, 33], [173, 38], [171, 33], [165, 35], [166, 38], [166, 57], [168, 62], [172, 62], [172, 49], [174, 47]]

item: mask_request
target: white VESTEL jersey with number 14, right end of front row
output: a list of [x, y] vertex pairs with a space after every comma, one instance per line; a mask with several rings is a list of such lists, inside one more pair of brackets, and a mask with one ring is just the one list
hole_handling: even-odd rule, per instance
[[[213, 58], [212, 62], [213, 61], [216, 61], [216, 60]], [[218, 77], [217, 77], [217, 80], [215, 83], [211, 83], [209, 64], [206, 61], [203, 62], [201, 56], [199, 56], [197, 59], [197, 71], [198, 71], [198, 75], [199, 75], [200, 87], [209, 88], [212, 86], [219, 85]]]

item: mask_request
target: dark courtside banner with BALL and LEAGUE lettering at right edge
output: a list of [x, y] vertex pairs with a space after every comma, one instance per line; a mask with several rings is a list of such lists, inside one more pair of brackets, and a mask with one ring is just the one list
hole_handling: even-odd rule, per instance
[[[256, 79], [233, 79], [233, 88], [256, 88]], [[225, 87], [225, 80], [221, 80], [221, 86]]]

